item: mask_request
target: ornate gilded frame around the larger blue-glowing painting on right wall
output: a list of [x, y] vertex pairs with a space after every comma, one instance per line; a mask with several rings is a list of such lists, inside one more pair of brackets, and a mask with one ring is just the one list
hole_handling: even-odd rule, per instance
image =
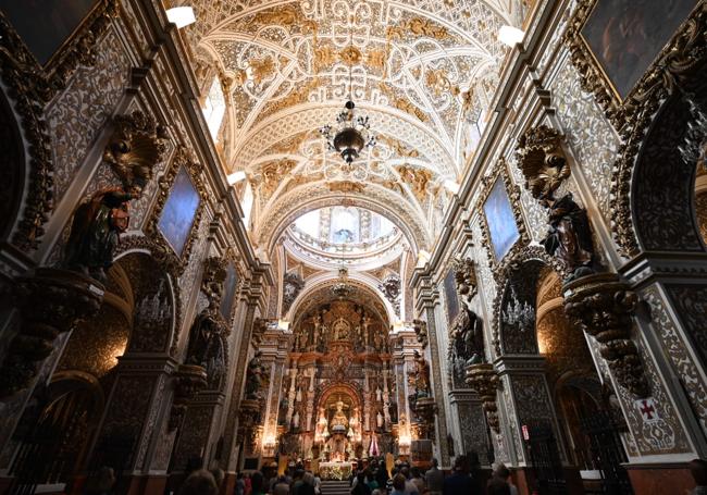
[[[488, 228], [488, 221], [486, 220], [486, 214], [484, 212], [484, 205], [491, 195], [494, 185], [498, 178], [504, 181], [506, 186], [506, 194], [508, 195], [508, 201], [510, 202], [511, 210], [513, 211], [513, 218], [516, 219], [516, 227], [518, 228], [519, 238], [513, 243], [508, 252], [499, 260], [496, 259], [496, 255], [493, 252], [493, 245], [491, 244], [491, 231]], [[493, 171], [489, 175], [486, 175], [481, 180], [481, 195], [476, 201], [476, 211], [479, 211], [481, 216], [481, 244], [485, 246], [486, 257], [488, 258], [488, 265], [494, 275], [494, 280], [498, 281], [500, 276], [500, 270], [504, 267], [504, 260], [514, 259], [518, 257], [518, 253], [524, 249], [524, 247], [531, 242], [530, 235], [525, 227], [525, 221], [523, 219], [523, 207], [521, 205], [521, 187], [510, 178], [510, 171], [508, 170], [508, 164], [503, 158], [498, 161], [497, 165], [493, 168]]]

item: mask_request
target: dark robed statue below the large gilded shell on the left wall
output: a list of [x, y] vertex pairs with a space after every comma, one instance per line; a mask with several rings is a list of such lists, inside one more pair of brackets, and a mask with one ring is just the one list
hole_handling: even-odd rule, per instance
[[64, 252], [69, 270], [106, 281], [120, 235], [129, 225], [128, 201], [141, 195], [144, 185], [136, 181], [127, 191], [122, 187], [101, 189], [76, 209]]

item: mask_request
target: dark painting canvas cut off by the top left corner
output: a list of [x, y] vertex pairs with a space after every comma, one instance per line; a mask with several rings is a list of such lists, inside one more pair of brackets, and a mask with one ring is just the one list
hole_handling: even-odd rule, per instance
[[98, 0], [0, 0], [10, 21], [40, 65], [66, 42]]

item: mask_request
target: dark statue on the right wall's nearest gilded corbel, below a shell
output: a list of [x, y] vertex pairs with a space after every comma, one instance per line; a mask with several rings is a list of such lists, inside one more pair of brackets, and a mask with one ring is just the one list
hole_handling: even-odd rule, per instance
[[547, 198], [543, 203], [549, 208], [550, 226], [542, 243], [570, 273], [566, 282], [594, 273], [594, 246], [586, 210], [574, 202], [571, 193], [560, 199]]

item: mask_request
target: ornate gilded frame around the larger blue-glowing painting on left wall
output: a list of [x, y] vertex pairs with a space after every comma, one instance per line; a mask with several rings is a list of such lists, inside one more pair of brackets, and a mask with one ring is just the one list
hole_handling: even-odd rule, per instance
[[[170, 245], [170, 243], [166, 240], [164, 235], [162, 235], [162, 233], [160, 232], [160, 228], [158, 227], [158, 223], [160, 221], [160, 215], [164, 210], [164, 206], [166, 205], [166, 201], [170, 197], [170, 194], [172, 193], [172, 187], [174, 186], [176, 176], [182, 168], [186, 170], [187, 174], [189, 175], [189, 178], [191, 180], [191, 183], [194, 184], [194, 187], [196, 188], [199, 195], [199, 206], [197, 207], [197, 211], [194, 214], [191, 228], [189, 231], [189, 235], [187, 236], [186, 242], [184, 243], [184, 247], [182, 248], [182, 253], [177, 255], [176, 251]], [[202, 170], [203, 166], [199, 163], [196, 163], [191, 159], [187, 148], [185, 148], [184, 146], [177, 147], [177, 150], [174, 153], [174, 157], [172, 158], [172, 162], [168, 166], [164, 174], [158, 178], [159, 190], [157, 193], [157, 200], [154, 202], [154, 206], [152, 207], [152, 211], [150, 212], [149, 220], [145, 226], [145, 232], [152, 238], [154, 244], [157, 244], [163, 252], [169, 252], [171, 255], [171, 258], [173, 258], [174, 260], [173, 263], [175, 264], [174, 269], [177, 276], [182, 274], [182, 272], [186, 268], [187, 262], [189, 261], [189, 257], [191, 256], [191, 249], [194, 247], [194, 242], [196, 240], [197, 233], [199, 231], [199, 225], [201, 224], [201, 216], [203, 215], [203, 209], [208, 200], [207, 189], [201, 178]]]

